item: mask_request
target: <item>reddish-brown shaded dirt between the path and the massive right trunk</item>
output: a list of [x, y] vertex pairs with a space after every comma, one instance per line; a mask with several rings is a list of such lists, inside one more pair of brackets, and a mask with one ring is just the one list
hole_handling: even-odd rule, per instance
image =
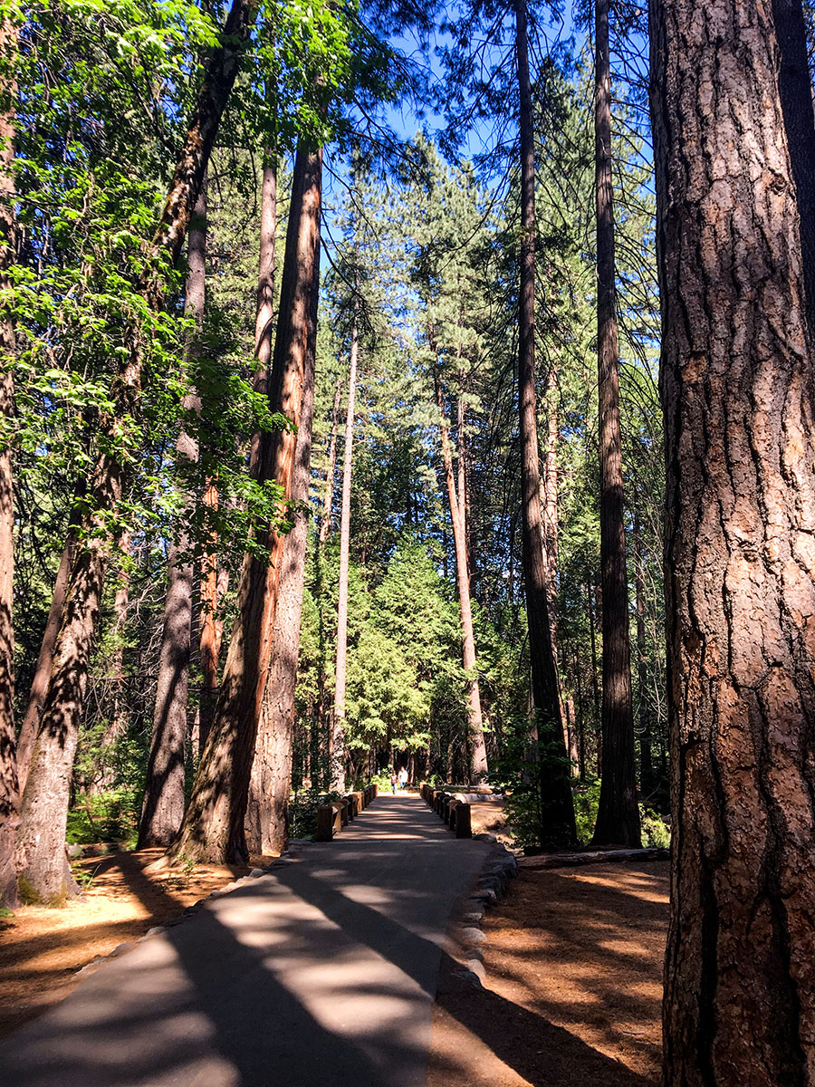
[[486, 987], [442, 976], [430, 1087], [654, 1087], [668, 865], [521, 861], [484, 921]]

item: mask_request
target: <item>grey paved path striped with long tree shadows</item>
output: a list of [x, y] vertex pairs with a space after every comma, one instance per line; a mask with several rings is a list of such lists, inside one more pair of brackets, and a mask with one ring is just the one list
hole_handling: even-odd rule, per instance
[[87, 978], [1, 1087], [423, 1087], [453, 899], [489, 846], [411, 794]]

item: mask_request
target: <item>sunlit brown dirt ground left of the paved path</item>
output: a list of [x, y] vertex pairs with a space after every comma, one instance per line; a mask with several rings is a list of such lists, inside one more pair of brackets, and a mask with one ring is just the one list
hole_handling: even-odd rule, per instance
[[189, 873], [146, 873], [161, 853], [145, 849], [82, 861], [75, 871], [92, 876], [87, 901], [59, 910], [24, 905], [0, 917], [0, 1038], [66, 997], [83, 966], [250, 871], [202, 864]]

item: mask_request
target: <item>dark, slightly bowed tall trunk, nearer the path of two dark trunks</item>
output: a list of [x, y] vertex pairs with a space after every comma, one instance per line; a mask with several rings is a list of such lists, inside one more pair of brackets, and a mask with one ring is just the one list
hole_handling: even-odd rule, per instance
[[524, 580], [529, 624], [531, 696], [538, 733], [541, 845], [576, 841], [575, 810], [557, 697], [557, 671], [549, 628], [547, 570], [540, 505], [538, 416], [535, 397], [535, 134], [529, 84], [526, 0], [516, 0], [516, 46], [521, 95], [521, 299], [518, 401], [521, 487], [524, 513]]

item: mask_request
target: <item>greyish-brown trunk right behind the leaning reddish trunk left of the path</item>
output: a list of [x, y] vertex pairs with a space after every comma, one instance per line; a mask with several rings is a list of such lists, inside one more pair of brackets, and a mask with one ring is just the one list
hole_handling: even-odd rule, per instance
[[303, 402], [297, 435], [291, 499], [298, 503], [294, 523], [286, 538], [280, 571], [272, 659], [258, 727], [254, 761], [249, 780], [244, 820], [250, 853], [278, 855], [289, 837], [289, 796], [294, 746], [294, 691], [300, 655], [300, 617], [303, 607], [305, 550], [309, 542], [309, 480], [314, 411], [314, 361], [317, 339], [319, 264], [314, 264], [314, 287], [309, 317], [309, 347], [303, 374]]

